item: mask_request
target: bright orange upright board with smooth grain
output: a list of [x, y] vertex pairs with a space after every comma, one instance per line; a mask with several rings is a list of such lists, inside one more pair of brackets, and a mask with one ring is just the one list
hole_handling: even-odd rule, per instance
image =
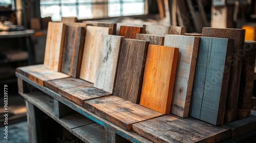
[[178, 55], [175, 47], [148, 46], [140, 105], [170, 113]]

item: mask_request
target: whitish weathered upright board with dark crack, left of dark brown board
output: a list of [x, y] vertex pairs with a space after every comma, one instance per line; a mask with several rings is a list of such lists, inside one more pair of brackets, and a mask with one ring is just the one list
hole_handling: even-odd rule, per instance
[[122, 36], [103, 36], [103, 58], [100, 61], [94, 87], [113, 93]]

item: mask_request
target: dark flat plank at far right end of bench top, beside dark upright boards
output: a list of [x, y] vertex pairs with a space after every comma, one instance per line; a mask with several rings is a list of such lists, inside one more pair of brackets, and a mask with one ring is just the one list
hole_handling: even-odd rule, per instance
[[251, 110], [250, 117], [226, 123], [224, 126], [232, 130], [232, 138], [253, 131], [256, 129], [256, 111]]

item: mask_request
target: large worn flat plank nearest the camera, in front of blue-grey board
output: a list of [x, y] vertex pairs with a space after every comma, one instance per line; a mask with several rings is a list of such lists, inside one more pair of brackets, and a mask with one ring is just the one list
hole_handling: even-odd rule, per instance
[[231, 136], [227, 127], [173, 114], [133, 124], [132, 131], [153, 142], [218, 142]]

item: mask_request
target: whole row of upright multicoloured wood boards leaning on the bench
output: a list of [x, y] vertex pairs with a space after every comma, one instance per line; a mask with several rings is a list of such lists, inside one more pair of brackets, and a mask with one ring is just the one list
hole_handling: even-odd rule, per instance
[[[113, 34], [113, 25], [99, 27], [99, 23], [50, 23], [45, 66], [163, 114], [189, 114], [214, 125], [223, 124], [224, 115], [229, 120], [232, 113], [227, 107], [231, 104], [237, 108], [232, 100], [238, 99], [242, 64], [237, 58], [243, 47], [244, 30], [204, 28], [202, 36], [206, 37], [194, 37], [168, 35], [173, 28], [166, 26], [120, 26], [120, 36], [115, 36], [108, 35]], [[58, 28], [65, 33], [65, 26], [66, 40], [63, 36], [54, 39], [61, 34], [54, 36], [61, 31]], [[82, 27], [86, 27], [85, 38]], [[145, 31], [152, 35], [141, 34]], [[177, 33], [182, 34], [182, 28], [176, 28]], [[51, 50], [61, 47], [61, 42], [62, 51]], [[54, 53], [56, 57], [51, 55]], [[56, 63], [57, 68], [51, 68]]]

